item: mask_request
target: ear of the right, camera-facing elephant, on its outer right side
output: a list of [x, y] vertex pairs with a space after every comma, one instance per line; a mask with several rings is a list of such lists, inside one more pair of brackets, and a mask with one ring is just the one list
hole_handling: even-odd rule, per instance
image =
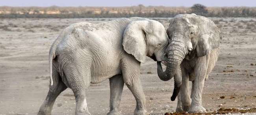
[[198, 27], [200, 29], [200, 37], [197, 44], [197, 56], [202, 57], [207, 55], [212, 49], [219, 47], [220, 30], [208, 18], [199, 16]]

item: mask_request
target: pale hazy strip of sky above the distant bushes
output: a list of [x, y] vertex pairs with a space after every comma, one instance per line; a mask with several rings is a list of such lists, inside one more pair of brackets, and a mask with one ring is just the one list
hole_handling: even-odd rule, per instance
[[255, 7], [256, 0], [0, 0], [0, 6], [133, 6], [143, 4], [163, 6], [248, 6]]

